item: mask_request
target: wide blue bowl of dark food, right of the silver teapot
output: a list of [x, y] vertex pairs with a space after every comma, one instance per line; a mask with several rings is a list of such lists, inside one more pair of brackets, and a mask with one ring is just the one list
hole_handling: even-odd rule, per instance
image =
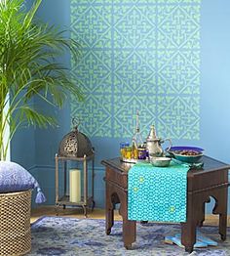
[[[181, 162], [188, 162], [188, 163], [196, 163], [199, 162], [203, 156], [204, 149], [197, 148], [197, 147], [185, 147], [185, 146], [179, 146], [179, 147], [172, 147], [171, 149], [166, 149], [171, 156], [173, 156], [175, 159], [181, 161]], [[196, 155], [185, 155], [180, 154], [178, 151], [180, 150], [193, 150], [197, 151], [198, 154]]]

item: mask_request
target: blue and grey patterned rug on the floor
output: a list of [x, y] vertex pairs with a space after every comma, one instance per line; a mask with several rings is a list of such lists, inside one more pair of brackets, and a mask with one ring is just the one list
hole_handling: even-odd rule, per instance
[[[177, 245], [166, 244], [164, 236], [180, 232], [177, 224], [137, 224], [133, 250], [122, 241], [122, 222], [115, 222], [111, 235], [105, 235], [104, 220], [43, 217], [31, 226], [32, 250], [28, 255], [189, 255]], [[203, 227], [204, 235], [218, 242], [217, 247], [195, 249], [190, 255], [230, 255], [230, 235], [222, 242], [216, 227]]]

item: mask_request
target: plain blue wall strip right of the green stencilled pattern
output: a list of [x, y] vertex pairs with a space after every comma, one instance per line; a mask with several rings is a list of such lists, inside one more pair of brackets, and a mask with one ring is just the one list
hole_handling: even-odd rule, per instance
[[201, 145], [207, 154], [230, 162], [230, 2], [202, 1]]

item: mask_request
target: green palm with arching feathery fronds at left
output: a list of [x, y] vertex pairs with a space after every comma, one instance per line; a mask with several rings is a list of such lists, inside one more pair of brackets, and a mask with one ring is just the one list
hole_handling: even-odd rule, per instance
[[[56, 107], [63, 106], [69, 93], [83, 100], [76, 79], [57, 61], [66, 50], [77, 59], [79, 44], [66, 38], [66, 31], [34, 21], [41, 2], [35, 0], [26, 11], [23, 0], [0, 1], [0, 159], [6, 158], [20, 126], [56, 124], [53, 116], [31, 104], [34, 96]], [[10, 134], [4, 144], [8, 125]]]

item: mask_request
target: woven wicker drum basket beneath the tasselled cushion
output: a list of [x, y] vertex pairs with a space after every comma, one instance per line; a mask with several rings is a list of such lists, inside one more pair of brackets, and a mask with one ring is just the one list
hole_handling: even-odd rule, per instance
[[31, 192], [0, 193], [0, 255], [23, 255], [31, 249]]

